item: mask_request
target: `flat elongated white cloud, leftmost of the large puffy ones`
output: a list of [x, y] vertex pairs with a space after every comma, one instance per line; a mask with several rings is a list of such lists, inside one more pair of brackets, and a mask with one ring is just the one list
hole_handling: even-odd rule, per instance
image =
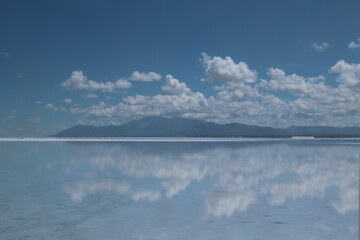
[[124, 79], [119, 79], [116, 82], [96, 82], [87, 79], [82, 71], [74, 71], [69, 79], [61, 83], [61, 86], [68, 89], [113, 92], [116, 89], [130, 88], [131, 83]]

